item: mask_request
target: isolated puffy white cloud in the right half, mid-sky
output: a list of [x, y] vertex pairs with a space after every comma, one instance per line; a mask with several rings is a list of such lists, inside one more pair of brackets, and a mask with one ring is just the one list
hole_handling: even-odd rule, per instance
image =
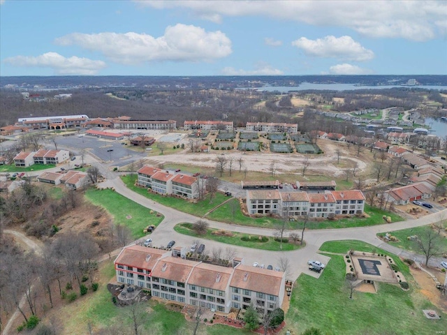
[[292, 45], [300, 48], [307, 56], [335, 57], [349, 61], [369, 61], [374, 58], [374, 52], [362, 47], [351, 36], [325, 36], [309, 40], [305, 37], [294, 40]]

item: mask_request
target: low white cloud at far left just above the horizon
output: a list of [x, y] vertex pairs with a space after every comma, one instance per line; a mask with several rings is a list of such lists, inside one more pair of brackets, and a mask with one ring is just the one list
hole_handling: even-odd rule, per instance
[[94, 61], [76, 56], [66, 58], [57, 52], [46, 52], [37, 57], [8, 57], [3, 61], [13, 66], [52, 68], [58, 75], [95, 75], [98, 70], [106, 66], [103, 61]]

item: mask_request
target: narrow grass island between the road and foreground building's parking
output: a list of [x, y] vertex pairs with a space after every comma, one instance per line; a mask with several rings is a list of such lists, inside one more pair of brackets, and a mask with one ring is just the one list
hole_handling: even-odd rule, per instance
[[[283, 243], [282, 249], [280, 248], [280, 243], [274, 240], [274, 237], [268, 237], [268, 241], [259, 241], [259, 235], [248, 235], [242, 234], [240, 232], [231, 232], [233, 236], [220, 236], [213, 234], [213, 232], [219, 231], [218, 229], [209, 228], [206, 234], [198, 235], [196, 232], [191, 230], [191, 223], [180, 223], [175, 225], [174, 230], [180, 234], [189, 235], [192, 237], [197, 237], [198, 239], [211, 239], [212, 241], [218, 241], [226, 244], [233, 244], [234, 246], [245, 246], [247, 248], [256, 248], [261, 250], [270, 251], [291, 251], [301, 248], [300, 244], [293, 243]], [[252, 241], [242, 241], [241, 237], [249, 237]]]

